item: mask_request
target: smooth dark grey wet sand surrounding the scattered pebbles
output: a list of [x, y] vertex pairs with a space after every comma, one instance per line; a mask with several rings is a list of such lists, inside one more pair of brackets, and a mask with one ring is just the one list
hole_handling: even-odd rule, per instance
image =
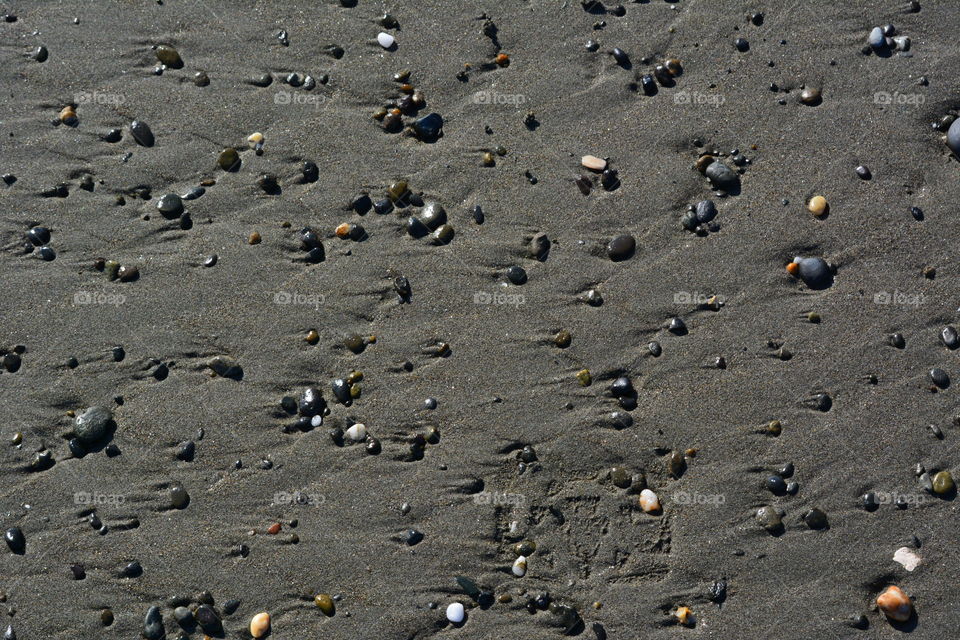
[[[230, 638], [250, 637], [260, 611], [276, 638], [560, 636], [557, 615], [527, 610], [543, 592], [579, 612], [584, 638], [954, 633], [956, 503], [924, 492], [915, 469], [953, 469], [960, 455], [956, 389], [931, 392], [927, 374], [958, 371], [939, 339], [960, 302], [958, 166], [930, 123], [960, 106], [960, 10], [784, 4], [652, 0], [616, 16], [573, 0], [425, 0], [387, 7], [399, 29], [380, 26], [384, 7], [366, 2], [6, 6], [17, 20], [0, 23], [0, 173], [17, 180], [0, 185], [0, 346], [26, 350], [18, 371], [0, 375], [0, 524], [22, 529], [26, 553], [0, 553], [0, 591], [18, 637], [139, 637], [156, 605], [176, 638], [173, 605], [203, 590], [218, 607], [241, 600], [224, 617]], [[756, 11], [760, 25], [749, 20]], [[910, 55], [861, 52], [887, 23], [911, 38]], [[395, 50], [377, 44], [381, 31]], [[598, 51], [585, 48], [590, 39]], [[174, 46], [183, 68], [155, 75], [157, 44]], [[331, 44], [341, 58], [324, 53]], [[42, 63], [27, 55], [39, 45]], [[501, 52], [508, 66], [492, 63]], [[644, 95], [640, 76], [666, 58], [682, 60], [676, 86]], [[386, 133], [371, 117], [401, 95], [391, 76], [402, 69], [426, 98], [419, 115], [443, 117], [435, 142]], [[194, 83], [197, 71], [209, 86]], [[270, 86], [248, 82], [265, 72]], [[291, 72], [329, 82], [292, 88], [282, 82]], [[803, 86], [821, 89], [822, 103], [800, 103]], [[70, 103], [77, 126], [53, 126]], [[152, 129], [152, 147], [133, 140], [135, 119]], [[111, 128], [121, 141], [101, 140]], [[262, 155], [247, 148], [255, 131]], [[484, 166], [498, 145], [506, 154]], [[231, 146], [242, 164], [224, 172], [217, 157]], [[718, 196], [694, 163], [717, 150], [735, 168], [734, 149], [750, 161], [742, 189]], [[580, 166], [586, 154], [610, 160], [619, 188], [578, 190], [577, 176], [596, 180]], [[318, 181], [301, 182], [305, 160]], [[857, 177], [860, 164], [872, 179]], [[279, 194], [257, 186], [262, 173], [277, 177]], [[92, 191], [80, 188], [85, 175]], [[189, 230], [157, 211], [160, 196], [211, 178], [185, 202]], [[418, 207], [348, 210], [397, 180], [443, 205], [452, 242], [406, 233]], [[61, 183], [67, 197], [41, 195]], [[145, 187], [149, 197], [137, 197]], [[830, 203], [823, 219], [806, 208], [816, 194]], [[719, 228], [684, 230], [687, 206], [708, 198]], [[344, 222], [361, 224], [364, 239], [337, 238]], [[24, 253], [36, 225], [50, 229], [55, 260]], [[323, 239], [318, 264], [304, 261], [304, 227]], [[248, 243], [254, 232], [260, 244]], [[551, 240], [542, 262], [526, 247], [538, 232]], [[613, 262], [605, 246], [621, 233], [637, 249]], [[211, 254], [216, 265], [204, 267]], [[824, 257], [833, 285], [815, 291], [791, 277], [794, 256]], [[110, 281], [97, 258], [140, 277]], [[512, 265], [526, 284], [507, 283]], [[398, 275], [408, 304], [393, 290]], [[602, 305], [585, 303], [590, 289]], [[714, 294], [719, 311], [696, 304]], [[675, 316], [686, 335], [664, 328]], [[559, 349], [563, 329], [572, 342]], [[304, 340], [310, 330], [316, 345]], [[893, 332], [904, 349], [889, 345]], [[376, 341], [356, 354], [344, 346], [353, 334]], [[437, 342], [447, 357], [435, 357]], [[776, 357], [781, 346], [792, 358]], [[242, 380], [211, 375], [215, 356], [236, 359]], [[162, 380], [152, 375], [160, 364]], [[362, 393], [345, 407], [330, 384], [355, 370]], [[629, 426], [611, 418], [623, 411], [607, 391], [620, 375], [637, 391]], [[311, 386], [330, 414], [286, 432], [296, 418], [281, 399]], [[832, 398], [829, 411], [813, 406], [818, 393]], [[112, 410], [119, 455], [106, 443], [71, 454], [68, 412], [94, 405]], [[779, 437], [761, 433], [771, 420]], [[379, 455], [333, 442], [332, 428], [354, 422], [380, 441]], [[411, 455], [411, 437], [431, 426], [439, 443]], [[17, 432], [22, 443], [9, 444]], [[178, 460], [188, 440], [195, 457]], [[527, 445], [536, 460], [521, 472]], [[53, 464], [30, 470], [42, 449]], [[688, 449], [695, 456], [672, 477], [668, 455]], [[764, 480], [786, 462], [799, 492], [773, 496]], [[615, 466], [645, 472], [661, 514], [610, 482]], [[170, 507], [174, 485], [190, 495], [184, 509]], [[868, 491], [884, 502], [872, 512], [860, 500]], [[906, 508], [892, 504], [898, 496]], [[767, 505], [786, 513], [778, 535], [755, 521]], [[801, 520], [812, 507], [827, 529]], [[270, 535], [275, 522], [282, 531]], [[406, 544], [409, 529], [423, 540]], [[892, 558], [913, 535], [923, 560], [908, 572]], [[517, 578], [511, 547], [521, 540], [537, 548]], [[241, 544], [246, 557], [235, 554]], [[133, 560], [143, 575], [120, 577]], [[471, 608], [458, 575], [512, 601]], [[872, 610], [888, 584], [913, 599], [907, 625]], [[317, 609], [315, 593], [342, 595], [336, 615]], [[468, 605], [461, 627], [444, 617], [454, 601]], [[693, 629], [677, 628], [679, 606], [693, 610]], [[115, 615], [108, 628], [104, 608]], [[861, 614], [869, 630], [845, 623]]]

